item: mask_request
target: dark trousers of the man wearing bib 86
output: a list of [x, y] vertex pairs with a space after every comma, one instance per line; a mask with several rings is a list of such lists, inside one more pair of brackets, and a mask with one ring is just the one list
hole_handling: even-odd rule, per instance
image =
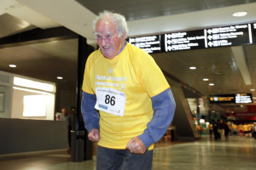
[[129, 150], [114, 150], [98, 145], [96, 170], [151, 170], [153, 150], [131, 154]]

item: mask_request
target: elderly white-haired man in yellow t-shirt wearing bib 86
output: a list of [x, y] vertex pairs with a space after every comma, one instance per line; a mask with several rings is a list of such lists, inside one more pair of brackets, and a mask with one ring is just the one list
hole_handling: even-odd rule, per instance
[[82, 114], [98, 142], [96, 168], [151, 169], [154, 143], [172, 122], [175, 101], [154, 59], [125, 42], [125, 17], [104, 11], [94, 31], [99, 49], [86, 61]]

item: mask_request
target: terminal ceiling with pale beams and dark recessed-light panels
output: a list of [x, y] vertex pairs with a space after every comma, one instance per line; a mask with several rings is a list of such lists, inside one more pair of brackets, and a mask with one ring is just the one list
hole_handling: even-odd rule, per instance
[[[108, 9], [124, 14], [129, 37], [155, 35], [172, 31], [190, 31], [207, 27], [251, 23], [256, 20], [256, 0], [2, 0], [0, 3], [0, 38], [36, 28], [42, 30], [65, 26], [86, 37], [95, 46], [92, 20]], [[232, 17], [237, 11], [247, 16]], [[76, 83], [78, 39], [36, 41], [30, 44], [3, 44], [0, 39], [0, 71], [49, 82]], [[244, 55], [237, 56], [238, 52]], [[209, 48], [152, 54], [160, 68], [184, 88], [206, 98], [211, 94], [252, 93], [256, 88], [256, 48]], [[241, 59], [241, 60], [239, 60]], [[17, 65], [10, 68], [9, 64]], [[194, 71], [189, 66], [196, 66]], [[61, 76], [63, 80], [57, 80]], [[208, 78], [208, 82], [202, 81]], [[212, 82], [215, 85], [209, 86]], [[193, 97], [193, 93], [189, 94]], [[238, 111], [236, 105], [211, 105], [212, 110]], [[235, 109], [234, 109], [235, 108]], [[246, 111], [242, 107], [240, 111]]]

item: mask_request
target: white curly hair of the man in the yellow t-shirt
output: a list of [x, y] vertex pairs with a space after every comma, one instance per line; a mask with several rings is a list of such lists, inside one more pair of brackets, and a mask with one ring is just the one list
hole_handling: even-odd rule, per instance
[[99, 20], [102, 20], [103, 18], [106, 18], [108, 20], [113, 21], [113, 23], [116, 26], [117, 31], [119, 31], [119, 37], [123, 36], [124, 32], [125, 37], [128, 34], [128, 26], [125, 20], [125, 16], [121, 14], [116, 14], [113, 12], [110, 12], [108, 10], [104, 10], [102, 13], [100, 13], [95, 20], [93, 20], [93, 30], [96, 31], [96, 24]]

